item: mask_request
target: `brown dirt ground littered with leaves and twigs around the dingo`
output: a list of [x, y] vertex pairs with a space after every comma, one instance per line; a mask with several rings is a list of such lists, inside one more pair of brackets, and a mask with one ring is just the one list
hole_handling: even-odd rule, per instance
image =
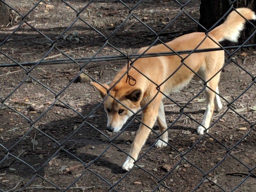
[[[24, 15], [37, 3], [32, 0], [6, 2]], [[72, 58], [91, 57], [104, 44], [104, 38], [81, 20], [77, 20], [61, 38], [58, 38], [76, 19], [77, 13], [62, 1], [42, 2], [27, 15], [26, 21], [48, 38], [57, 40], [55, 45], [61, 51]], [[124, 2], [130, 7], [137, 3], [130, 0]], [[184, 4], [186, 1], [180, 2]], [[81, 0], [69, 0], [68, 4], [76, 10], [81, 10], [85, 5]], [[200, 1], [191, 1], [184, 10], [199, 20], [199, 6]], [[133, 13], [158, 33], [179, 10], [180, 6], [175, 1], [147, 0], [134, 9]], [[10, 26], [19, 25], [21, 16], [13, 11], [11, 13], [13, 20]], [[119, 1], [93, 1], [82, 11], [80, 17], [100, 33], [109, 36], [128, 15], [128, 9]], [[196, 27], [192, 20], [181, 14], [164, 31], [160, 39], [167, 42], [195, 31]], [[1, 42], [13, 31], [9, 26], [0, 27], [0, 30]], [[134, 54], [140, 47], [150, 45], [155, 40], [154, 37], [152, 31], [135, 18], [131, 18], [109, 38], [109, 42], [124, 53]], [[74, 82], [66, 87], [80, 71], [76, 63], [38, 65], [29, 76], [22, 67], [1, 67], [2, 64], [13, 63], [14, 60], [39, 60], [50, 50], [50, 45], [51, 42], [43, 35], [28, 26], [22, 26], [0, 47], [0, 98], [6, 99], [5, 105], [0, 109], [1, 191], [14, 192], [27, 186], [23, 191], [61, 191], [70, 187], [67, 191], [141, 192], [154, 190], [158, 181], [162, 180], [164, 186], [161, 185], [156, 191], [187, 192], [193, 191], [204, 180], [204, 176], [216, 185], [204, 180], [194, 191], [231, 191], [238, 185], [235, 190], [238, 192], [255, 190], [255, 126], [254, 130], [238, 143], [251, 130], [250, 123], [256, 122], [256, 85], [254, 83], [250, 87], [252, 77], [243, 69], [230, 62], [223, 69], [219, 83], [220, 94], [229, 102], [250, 87], [232, 104], [232, 108], [239, 112], [240, 116], [231, 110], [225, 113], [227, 102], [222, 100], [223, 109], [219, 113], [214, 112], [212, 122], [223, 113], [225, 115], [212, 126], [212, 137], [205, 136], [196, 144], [201, 138], [196, 134], [198, 124], [182, 115], [168, 130], [169, 143], [173, 147], [152, 147], [137, 162], [142, 169], [133, 168], [125, 175], [121, 166], [126, 154], [121, 150], [129, 153], [139, 122], [132, 122], [112, 142], [113, 145], [109, 145], [109, 141], [118, 133], [106, 131], [107, 119], [102, 105], [86, 122], [83, 121], [83, 117], [98, 106], [101, 98], [88, 81]], [[252, 49], [243, 49], [233, 55], [233, 59], [254, 77], [255, 53]], [[98, 56], [118, 54], [117, 50], [107, 45]], [[47, 60], [67, 59], [56, 48], [45, 57]], [[122, 60], [89, 62], [84, 69], [93, 78], [107, 83], [125, 63]], [[25, 69], [29, 70], [31, 66], [26, 66]], [[171, 94], [170, 97], [185, 105], [202, 87], [192, 81], [186, 88]], [[65, 91], [61, 92], [64, 88]], [[13, 90], [15, 91], [12, 93]], [[59, 101], [54, 103], [55, 95], [60, 92]], [[178, 118], [179, 108], [167, 99], [164, 104], [167, 124], [170, 125]], [[203, 119], [204, 111], [203, 94], [184, 109], [184, 112], [199, 122]], [[138, 115], [138, 118], [141, 116]], [[154, 129], [158, 130], [158, 126]], [[156, 134], [152, 132], [140, 155], [153, 145], [155, 139]], [[227, 149], [235, 144], [237, 145], [227, 155]], [[181, 157], [174, 148], [182, 153], [190, 151]], [[218, 163], [220, 164], [216, 167]], [[173, 168], [174, 170], [165, 177], [168, 170]], [[254, 175], [248, 175], [249, 171]], [[110, 185], [116, 184], [120, 179], [121, 181], [110, 189]], [[74, 181], [76, 182], [73, 183]]]

